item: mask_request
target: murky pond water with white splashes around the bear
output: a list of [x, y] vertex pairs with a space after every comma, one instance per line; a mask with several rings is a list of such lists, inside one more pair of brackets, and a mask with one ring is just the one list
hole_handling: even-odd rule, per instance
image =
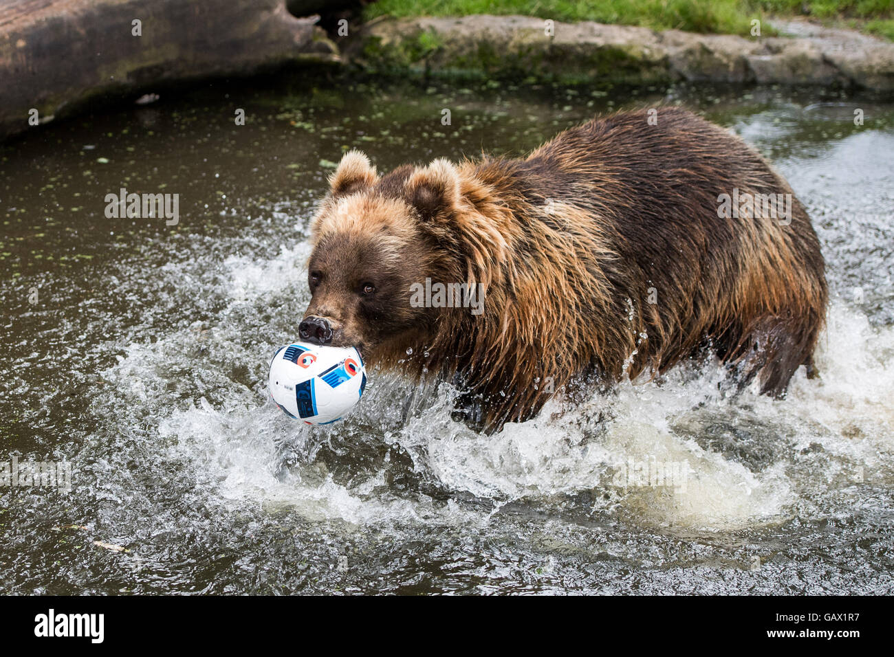
[[[822, 379], [730, 400], [679, 366], [491, 438], [449, 386], [388, 375], [330, 427], [267, 400], [343, 149], [521, 153], [659, 101], [742, 134], [808, 207]], [[179, 193], [180, 222], [105, 218], [122, 187]], [[0, 592], [890, 594], [892, 214], [894, 105], [867, 97], [278, 80], [27, 134], [0, 150], [0, 463], [64, 459], [73, 488], [0, 488]], [[637, 485], [661, 464], [683, 485]]]

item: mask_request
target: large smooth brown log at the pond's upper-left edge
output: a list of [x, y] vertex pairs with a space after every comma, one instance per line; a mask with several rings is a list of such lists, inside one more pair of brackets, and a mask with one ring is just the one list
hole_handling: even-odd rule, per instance
[[27, 130], [31, 109], [44, 121], [167, 80], [332, 60], [315, 22], [282, 0], [0, 0], [0, 138]]

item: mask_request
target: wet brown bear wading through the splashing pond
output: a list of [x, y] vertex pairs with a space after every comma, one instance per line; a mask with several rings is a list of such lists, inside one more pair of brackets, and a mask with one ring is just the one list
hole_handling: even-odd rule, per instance
[[330, 184], [301, 339], [452, 376], [487, 433], [553, 392], [704, 350], [776, 396], [798, 366], [813, 375], [828, 291], [805, 208], [742, 139], [685, 110], [384, 176], [350, 151]]

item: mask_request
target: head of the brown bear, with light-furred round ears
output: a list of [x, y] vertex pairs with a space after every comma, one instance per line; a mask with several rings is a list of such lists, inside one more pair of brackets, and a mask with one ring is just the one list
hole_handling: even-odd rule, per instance
[[355, 346], [374, 363], [406, 358], [408, 347], [430, 343], [443, 312], [411, 302], [414, 286], [474, 276], [462, 223], [477, 213], [463, 198], [460, 169], [438, 159], [380, 177], [352, 150], [329, 184], [311, 224], [312, 297], [301, 339]]

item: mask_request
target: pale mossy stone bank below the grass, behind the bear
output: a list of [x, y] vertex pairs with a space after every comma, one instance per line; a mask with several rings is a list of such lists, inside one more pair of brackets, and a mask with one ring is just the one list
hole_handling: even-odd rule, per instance
[[[894, 91], [894, 44], [805, 21], [774, 27], [797, 37], [743, 38], [527, 16], [383, 18], [346, 49], [381, 72], [513, 76], [561, 83], [675, 80]], [[551, 33], [552, 32], [552, 33]]]

